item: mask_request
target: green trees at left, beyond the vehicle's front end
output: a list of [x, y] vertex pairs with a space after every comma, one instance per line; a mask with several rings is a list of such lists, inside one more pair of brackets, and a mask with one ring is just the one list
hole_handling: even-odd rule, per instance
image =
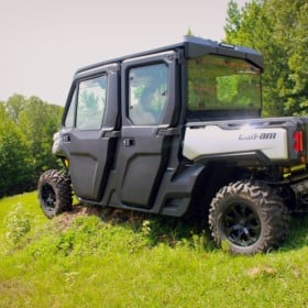
[[34, 96], [0, 101], [0, 197], [35, 189], [41, 173], [57, 166], [52, 144], [62, 112]]

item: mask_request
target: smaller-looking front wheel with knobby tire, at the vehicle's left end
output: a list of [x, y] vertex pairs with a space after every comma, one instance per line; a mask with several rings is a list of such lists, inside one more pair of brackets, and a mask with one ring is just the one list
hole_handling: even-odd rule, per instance
[[47, 218], [72, 209], [73, 194], [69, 178], [59, 170], [43, 173], [37, 185], [41, 208]]

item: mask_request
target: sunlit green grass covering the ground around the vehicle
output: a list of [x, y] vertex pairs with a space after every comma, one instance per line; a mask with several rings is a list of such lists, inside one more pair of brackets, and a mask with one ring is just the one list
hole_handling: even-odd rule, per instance
[[1, 199], [0, 307], [308, 307], [307, 217], [255, 256], [216, 249], [206, 228], [143, 219], [63, 229], [36, 193]]

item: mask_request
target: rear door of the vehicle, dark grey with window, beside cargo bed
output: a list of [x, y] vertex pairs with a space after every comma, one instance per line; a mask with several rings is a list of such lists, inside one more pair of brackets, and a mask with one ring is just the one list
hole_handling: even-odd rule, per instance
[[178, 133], [177, 58], [172, 51], [122, 64], [117, 188], [125, 206], [151, 208], [166, 170], [170, 140]]

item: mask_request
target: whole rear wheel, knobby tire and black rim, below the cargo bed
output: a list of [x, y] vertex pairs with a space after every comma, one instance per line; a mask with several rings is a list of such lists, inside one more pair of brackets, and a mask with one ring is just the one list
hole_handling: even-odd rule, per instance
[[279, 246], [288, 224], [283, 199], [260, 183], [231, 183], [217, 193], [210, 205], [213, 240], [232, 254], [255, 254]]

